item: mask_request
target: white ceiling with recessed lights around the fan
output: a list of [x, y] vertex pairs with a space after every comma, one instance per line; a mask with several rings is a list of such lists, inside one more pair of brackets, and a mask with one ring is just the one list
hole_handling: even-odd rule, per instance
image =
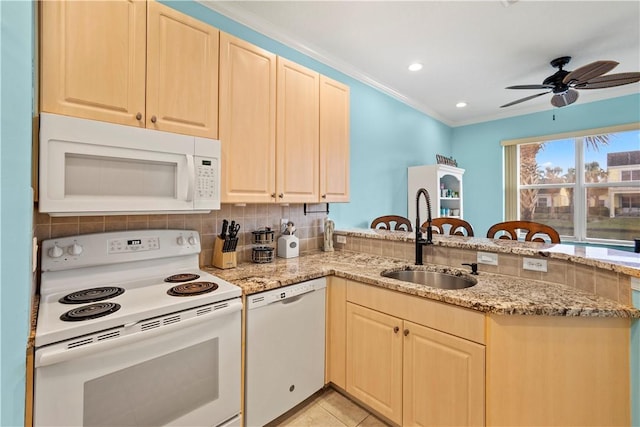
[[[614, 60], [640, 71], [640, 1], [212, 1], [211, 9], [451, 125], [550, 110], [541, 84], [559, 56], [574, 70]], [[424, 68], [409, 72], [421, 62]], [[640, 92], [582, 90], [579, 103]], [[456, 108], [466, 101], [466, 108]], [[563, 107], [571, 108], [571, 107]]]

